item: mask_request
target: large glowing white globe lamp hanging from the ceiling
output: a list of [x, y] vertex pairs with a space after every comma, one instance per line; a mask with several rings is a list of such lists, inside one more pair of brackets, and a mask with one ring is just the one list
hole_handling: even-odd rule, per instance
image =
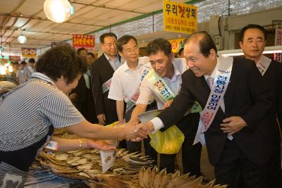
[[71, 4], [68, 0], [46, 0], [44, 13], [49, 20], [55, 23], [63, 23], [71, 16]]

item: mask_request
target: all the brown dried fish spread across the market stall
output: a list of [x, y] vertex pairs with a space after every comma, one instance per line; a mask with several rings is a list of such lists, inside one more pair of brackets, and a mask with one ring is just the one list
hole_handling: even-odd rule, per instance
[[[78, 139], [65, 130], [56, 130], [56, 136], [66, 139]], [[202, 184], [202, 177], [180, 175], [179, 171], [167, 174], [166, 170], [154, 167], [153, 162], [144, 154], [129, 153], [126, 149], [117, 149], [114, 165], [102, 173], [102, 159], [98, 149], [79, 149], [68, 152], [42, 151], [37, 163], [52, 170], [56, 175], [78, 180], [85, 180], [90, 187], [139, 188], [139, 187], [188, 187], [188, 188], [223, 188], [215, 185], [214, 180]]]

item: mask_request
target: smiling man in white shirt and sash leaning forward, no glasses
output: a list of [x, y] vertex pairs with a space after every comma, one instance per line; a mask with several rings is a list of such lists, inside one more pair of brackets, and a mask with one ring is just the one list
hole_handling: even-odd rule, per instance
[[[169, 106], [180, 90], [181, 75], [188, 69], [184, 58], [173, 58], [171, 44], [166, 39], [154, 39], [150, 42], [147, 45], [147, 54], [153, 69], [141, 83], [140, 96], [131, 115], [130, 123], [139, 120], [137, 115], [145, 111], [151, 96], [157, 101], [159, 109]], [[199, 113], [190, 113], [176, 123], [185, 134], [182, 145], [183, 173], [191, 173], [196, 176], [200, 176], [202, 146], [200, 144], [193, 146], [192, 143], [198, 122]], [[175, 157], [176, 154], [161, 154], [159, 168], [166, 168], [168, 173], [173, 173]]]

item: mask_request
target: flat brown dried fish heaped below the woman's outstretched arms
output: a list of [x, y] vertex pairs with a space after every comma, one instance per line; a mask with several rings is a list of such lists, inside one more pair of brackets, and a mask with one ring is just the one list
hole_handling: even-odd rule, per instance
[[[95, 184], [105, 187], [111, 182], [118, 185], [123, 182], [128, 187], [139, 187], [137, 173], [142, 167], [152, 167], [152, 160], [141, 157], [141, 153], [128, 153], [125, 149], [116, 150], [116, 161], [105, 174], [102, 174], [102, 162], [98, 149], [80, 149], [68, 152], [42, 151], [37, 161], [57, 175], [81, 180], [94, 180]], [[101, 182], [98, 182], [98, 181]], [[115, 182], [117, 181], [117, 182]], [[110, 186], [111, 187], [111, 186]]]

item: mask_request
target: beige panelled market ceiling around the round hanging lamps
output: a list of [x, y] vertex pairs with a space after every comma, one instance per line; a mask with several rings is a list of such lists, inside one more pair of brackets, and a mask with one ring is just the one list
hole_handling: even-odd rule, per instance
[[[75, 14], [65, 23], [53, 23], [43, 11], [44, 0], [0, 0], [0, 43], [4, 52], [20, 53], [22, 47], [42, 48], [123, 20], [162, 9], [161, 0], [76, 0]], [[187, 2], [180, 0], [178, 2]], [[27, 37], [18, 43], [20, 34]]]

